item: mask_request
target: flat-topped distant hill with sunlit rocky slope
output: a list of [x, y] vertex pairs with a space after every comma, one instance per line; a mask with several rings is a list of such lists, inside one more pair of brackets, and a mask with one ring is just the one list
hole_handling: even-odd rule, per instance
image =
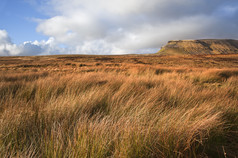
[[158, 52], [159, 54], [238, 54], [238, 40], [201, 39], [169, 41]]

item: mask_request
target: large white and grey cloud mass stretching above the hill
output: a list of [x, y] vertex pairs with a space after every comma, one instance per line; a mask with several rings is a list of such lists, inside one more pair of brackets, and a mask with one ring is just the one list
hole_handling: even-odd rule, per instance
[[216, 15], [225, 4], [234, 14], [238, 5], [232, 2], [50, 0], [44, 7], [51, 8], [51, 18], [41, 20], [37, 31], [75, 53], [153, 53], [172, 39], [238, 38], [230, 28], [237, 20], [224, 23]]

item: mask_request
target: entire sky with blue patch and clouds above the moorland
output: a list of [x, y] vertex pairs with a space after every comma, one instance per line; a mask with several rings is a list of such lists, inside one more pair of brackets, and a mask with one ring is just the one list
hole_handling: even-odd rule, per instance
[[156, 53], [238, 39], [237, 0], [1, 0], [0, 56]]

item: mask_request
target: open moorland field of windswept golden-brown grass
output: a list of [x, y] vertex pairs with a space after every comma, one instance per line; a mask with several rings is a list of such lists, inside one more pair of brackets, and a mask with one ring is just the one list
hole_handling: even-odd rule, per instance
[[238, 157], [238, 55], [0, 57], [0, 157]]

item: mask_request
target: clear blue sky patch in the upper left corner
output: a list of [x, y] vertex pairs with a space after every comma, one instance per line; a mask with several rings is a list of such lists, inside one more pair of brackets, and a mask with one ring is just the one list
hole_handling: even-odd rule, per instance
[[37, 11], [36, 6], [24, 0], [1, 0], [0, 29], [7, 30], [16, 44], [24, 41], [43, 40], [47, 36], [36, 32], [34, 18], [44, 19], [45, 15]]

